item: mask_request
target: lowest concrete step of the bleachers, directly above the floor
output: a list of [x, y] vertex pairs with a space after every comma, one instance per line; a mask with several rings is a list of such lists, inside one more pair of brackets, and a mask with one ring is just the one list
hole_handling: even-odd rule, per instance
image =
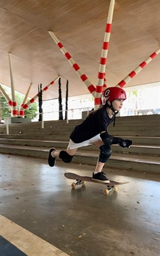
[[[61, 148], [57, 148], [61, 150]], [[21, 156], [33, 156], [48, 158], [48, 147], [29, 147], [20, 145], [1, 144], [0, 152], [5, 154], [15, 154]], [[96, 165], [98, 160], [98, 151], [77, 150], [73, 157], [73, 163]], [[58, 158], [56, 160], [59, 160]], [[130, 154], [113, 153], [105, 166], [110, 168], [119, 168], [123, 170], [135, 170], [138, 172], [159, 173], [160, 161], [156, 156], [141, 156]]]

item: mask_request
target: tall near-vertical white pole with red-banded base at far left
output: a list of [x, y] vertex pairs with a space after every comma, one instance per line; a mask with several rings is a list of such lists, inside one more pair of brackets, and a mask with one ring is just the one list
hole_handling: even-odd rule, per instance
[[14, 88], [14, 82], [13, 82], [13, 72], [12, 72], [12, 66], [11, 66], [11, 53], [8, 52], [9, 56], [9, 65], [10, 65], [10, 79], [11, 79], [11, 116], [17, 116], [18, 115], [18, 109], [17, 109], [17, 102], [15, 100], [15, 88]]

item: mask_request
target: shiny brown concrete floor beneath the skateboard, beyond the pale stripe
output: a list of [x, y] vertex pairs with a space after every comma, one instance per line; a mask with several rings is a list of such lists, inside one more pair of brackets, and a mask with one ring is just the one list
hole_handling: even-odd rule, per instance
[[[1, 214], [71, 256], [159, 255], [159, 175], [108, 170], [129, 180], [103, 195], [104, 185], [71, 189], [65, 172], [92, 175], [94, 166], [0, 155]], [[39, 255], [40, 256], [40, 255]], [[41, 255], [45, 256], [45, 255]]]

